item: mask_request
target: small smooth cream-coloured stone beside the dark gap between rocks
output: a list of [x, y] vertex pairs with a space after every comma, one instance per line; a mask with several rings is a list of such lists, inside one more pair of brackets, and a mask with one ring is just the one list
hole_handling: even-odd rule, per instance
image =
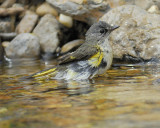
[[70, 16], [60, 14], [59, 22], [68, 28], [71, 28], [73, 26], [73, 19]]

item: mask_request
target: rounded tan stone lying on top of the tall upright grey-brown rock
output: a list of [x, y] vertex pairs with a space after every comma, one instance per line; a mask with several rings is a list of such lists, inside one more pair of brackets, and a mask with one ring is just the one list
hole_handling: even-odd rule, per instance
[[53, 16], [58, 16], [58, 12], [48, 3], [41, 4], [37, 9], [36, 13], [39, 16], [44, 16], [46, 14], [52, 14]]

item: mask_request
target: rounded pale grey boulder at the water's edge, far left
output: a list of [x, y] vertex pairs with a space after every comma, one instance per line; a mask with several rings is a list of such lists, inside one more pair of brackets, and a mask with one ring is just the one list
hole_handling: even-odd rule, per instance
[[16, 36], [5, 48], [8, 58], [37, 58], [40, 55], [39, 39], [30, 33]]

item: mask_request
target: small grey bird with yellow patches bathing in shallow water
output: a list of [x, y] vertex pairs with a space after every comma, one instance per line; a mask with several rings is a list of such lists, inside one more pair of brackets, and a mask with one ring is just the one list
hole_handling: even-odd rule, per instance
[[93, 24], [86, 33], [85, 43], [76, 51], [60, 57], [59, 65], [29, 77], [84, 80], [105, 73], [113, 60], [112, 47], [108, 37], [118, 27], [104, 21]]

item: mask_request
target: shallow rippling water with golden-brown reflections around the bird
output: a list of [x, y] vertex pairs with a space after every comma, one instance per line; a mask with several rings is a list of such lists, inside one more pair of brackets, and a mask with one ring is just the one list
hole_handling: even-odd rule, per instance
[[19, 79], [52, 64], [0, 66], [0, 128], [160, 127], [159, 64], [118, 65], [90, 81]]

